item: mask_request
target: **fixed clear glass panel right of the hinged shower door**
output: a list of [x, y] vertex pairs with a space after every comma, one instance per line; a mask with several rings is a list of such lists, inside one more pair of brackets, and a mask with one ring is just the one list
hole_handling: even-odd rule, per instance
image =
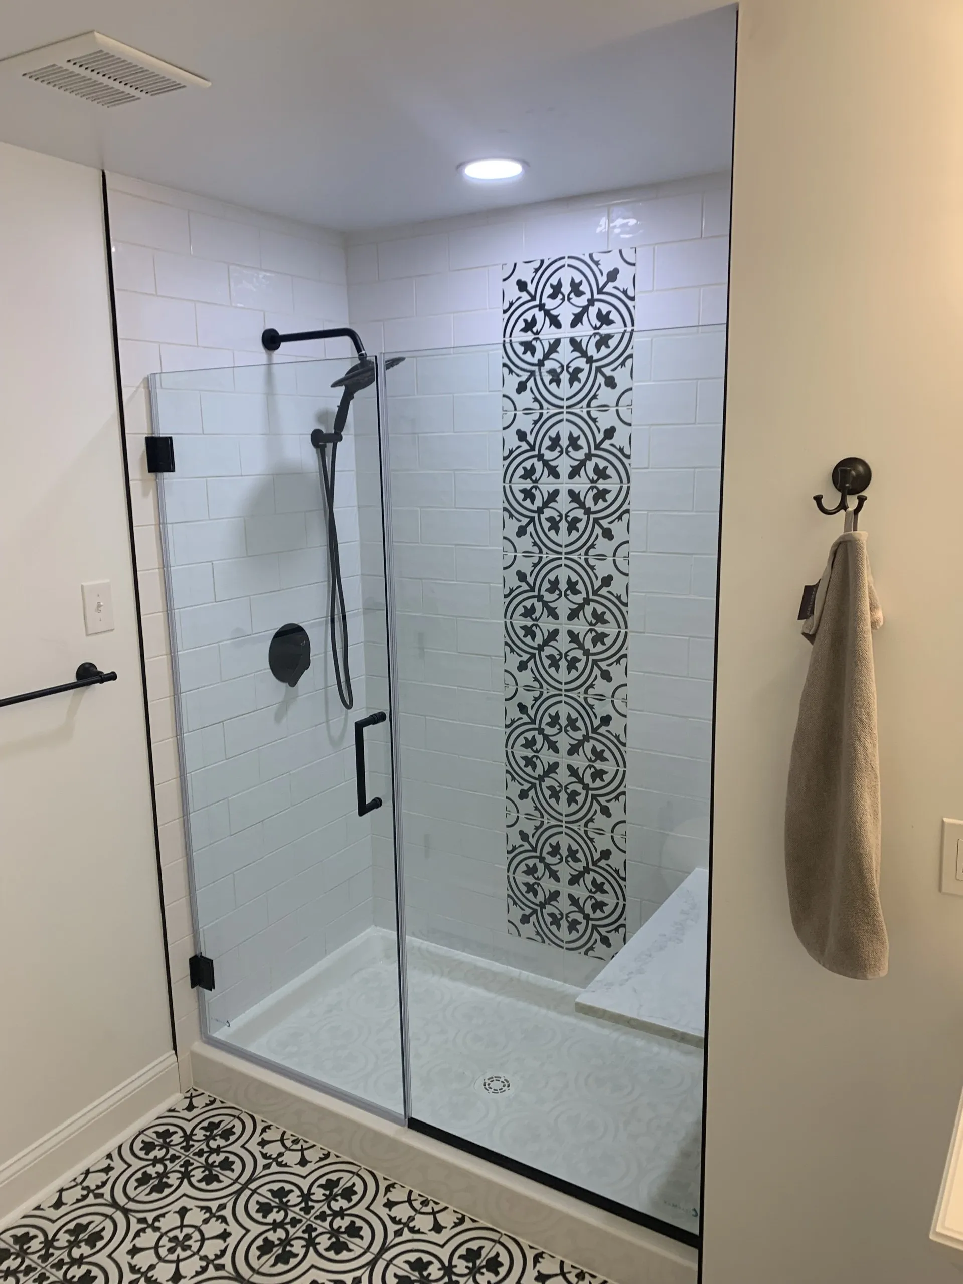
[[404, 357], [411, 1115], [692, 1239], [724, 330]]

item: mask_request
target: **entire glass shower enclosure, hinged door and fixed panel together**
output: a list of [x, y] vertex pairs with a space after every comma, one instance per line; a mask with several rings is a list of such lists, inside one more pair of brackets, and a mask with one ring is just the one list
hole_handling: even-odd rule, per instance
[[191, 900], [205, 1037], [695, 1243], [724, 330], [614, 345], [371, 358], [330, 510], [352, 362], [153, 376]]

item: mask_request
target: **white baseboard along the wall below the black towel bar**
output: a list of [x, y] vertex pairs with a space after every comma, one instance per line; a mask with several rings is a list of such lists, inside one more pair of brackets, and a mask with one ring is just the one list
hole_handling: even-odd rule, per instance
[[14, 1154], [0, 1165], [0, 1225], [32, 1208], [177, 1097], [177, 1058], [169, 1052]]

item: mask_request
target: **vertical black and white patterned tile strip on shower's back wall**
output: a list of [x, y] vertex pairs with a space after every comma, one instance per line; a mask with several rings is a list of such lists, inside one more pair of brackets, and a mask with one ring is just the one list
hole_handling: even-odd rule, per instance
[[508, 931], [625, 942], [634, 250], [505, 265]]

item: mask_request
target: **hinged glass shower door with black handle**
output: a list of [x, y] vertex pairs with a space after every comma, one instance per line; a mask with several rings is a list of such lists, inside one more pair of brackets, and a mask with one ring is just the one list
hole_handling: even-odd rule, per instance
[[152, 412], [205, 1034], [401, 1116], [375, 372], [160, 374]]

